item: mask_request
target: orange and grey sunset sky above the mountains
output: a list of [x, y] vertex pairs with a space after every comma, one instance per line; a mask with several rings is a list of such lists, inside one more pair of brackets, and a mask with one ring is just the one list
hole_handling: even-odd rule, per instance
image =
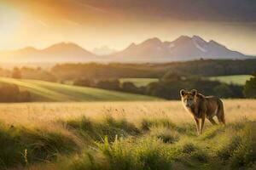
[[0, 0], [0, 50], [75, 42], [121, 50], [198, 35], [256, 54], [254, 0]]

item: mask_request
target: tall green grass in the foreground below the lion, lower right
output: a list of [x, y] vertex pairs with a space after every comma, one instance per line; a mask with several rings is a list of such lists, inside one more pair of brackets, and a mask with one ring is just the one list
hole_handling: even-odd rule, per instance
[[[157, 122], [157, 121], [156, 121]], [[256, 162], [256, 122], [210, 127], [200, 137], [166, 127], [151, 127], [139, 136], [105, 136], [93, 151], [73, 161], [82, 169], [248, 169]], [[223, 143], [222, 143], [223, 142]]]

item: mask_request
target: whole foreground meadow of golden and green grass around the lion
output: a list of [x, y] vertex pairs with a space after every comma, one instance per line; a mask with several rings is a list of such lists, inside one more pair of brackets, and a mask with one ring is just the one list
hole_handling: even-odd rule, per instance
[[256, 100], [198, 136], [180, 101], [0, 105], [0, 169], [255, 169]]

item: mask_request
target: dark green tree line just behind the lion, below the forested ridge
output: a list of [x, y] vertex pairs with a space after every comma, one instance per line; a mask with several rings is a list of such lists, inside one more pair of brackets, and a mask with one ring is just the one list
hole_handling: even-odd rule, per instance
[[132, 94], [145, 94], [163, 99], [180, 99], [179, 90], [198, 89], [205, 95], [217, 95], [220, 98], [244, 98], [243, 87], [210, 81], [201, 77], [184, 77], [166, 73], [158, 82], [151, 82], [146, 86], [137, 87], [133, 82], [120, 82], [118, 79], [88, 80], [78, 79], [73, 82], [76, 86], [103, 88]]

